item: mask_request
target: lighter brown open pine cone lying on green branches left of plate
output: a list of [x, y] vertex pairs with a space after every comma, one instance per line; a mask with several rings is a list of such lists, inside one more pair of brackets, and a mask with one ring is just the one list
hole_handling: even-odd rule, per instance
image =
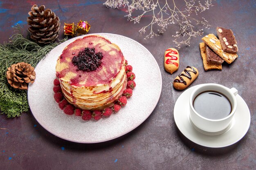
[[7, 69], [6, 77], [8, 83], [13, 88], [27, 89], [28, 83], [34, 83], [36, 72], [34, 71], [34, 67], [30, 64], [20, 62], [12, 64], [11, 67]]

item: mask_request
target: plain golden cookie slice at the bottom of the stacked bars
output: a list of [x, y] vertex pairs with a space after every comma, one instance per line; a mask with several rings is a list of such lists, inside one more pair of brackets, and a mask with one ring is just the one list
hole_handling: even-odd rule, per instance
[[212, 69], [222, 70], [221, 64], [207, 61], [206, 50], [205, 50], [205, 46], [207, 46], [207, 45], [204, 42], [201, 42], [199, 44], [199, 46], [200, 46], [200, 51], [201, 51], [201, 57], [203, 60], [204, 70], [205, 71], [212, 70]]

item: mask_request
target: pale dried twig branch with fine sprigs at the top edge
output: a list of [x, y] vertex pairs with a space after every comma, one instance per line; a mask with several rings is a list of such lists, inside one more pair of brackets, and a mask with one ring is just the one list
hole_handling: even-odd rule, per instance
[[[190, 17], [190, 14], [195, 13], [197, 15], [212, 6], [211, 0], [204, 0], [203, 3], [198, 0], [183, 1], [185, 6], [183, 11], [177, 8], [175, 0], [165, 0], [165, 4], [162, 6], [158, 0], [107, 0], [104, 5], [108, 8], [127, 7], [128, 14], [125, 16], [134, 23], [139, 23], [144, 15], [152, 15], [151, 22], [139, 30], [141, 35], [149, 32], [144, 39], [163, 34], [170, 24], [178, 24], [180, 29], [176, 31], [176, 35], [172, 36], [175, 38], [173, 42], [175, 42], [176, 47], [180, 49], [182, 45], [189, 46], [192, 37], [203, 34], [203, 29], [196, 30], [195, 25], [200, 24], [207, 29], [210, 27], [205, 18], [198, 20]], [[132, 17], [135, 10], [141, 14]], [[155, 24], [159, 27], [158, 33], [154, 32], [153, 25]]]

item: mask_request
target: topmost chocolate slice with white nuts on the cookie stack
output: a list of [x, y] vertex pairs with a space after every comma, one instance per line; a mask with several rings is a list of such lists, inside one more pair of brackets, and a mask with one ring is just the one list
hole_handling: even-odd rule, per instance
[[220, 39], [220, 44], [222, 46], [223, 51], [229, 52], [229, 53], [238, 52], [236, 38], [231, 29], [217, 27], [216, 31]]

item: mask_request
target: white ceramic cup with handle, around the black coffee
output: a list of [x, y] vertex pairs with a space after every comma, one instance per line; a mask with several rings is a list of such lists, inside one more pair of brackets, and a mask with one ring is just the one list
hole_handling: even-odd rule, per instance
[[[231, 113], [224, 118], [221, 119], [209, 119], [202, 115], [200, 115], [194, 108], [193, 102], [198, 95], [204, 92], [217, 92], [225, 96], [229, 103], [231, 104]], [[196, 126], [195, 128], [199, 131], [203, 131], [206, 133], [213, 133], [213, 135], [218, 135], [222, 132], [225, 132], [227, 128], [229, 128], [231, 124], [231, 120], [234, 117], [236, 112], [236, 95], [238, 91], [236, 88], [227, 88], [220, 84], [202, 84], [195, 88], [189, 98], [189, 106], [190, 106], [190, 119], [192, 123]], [[206, 113], [207, 114], [207, 113]]]

